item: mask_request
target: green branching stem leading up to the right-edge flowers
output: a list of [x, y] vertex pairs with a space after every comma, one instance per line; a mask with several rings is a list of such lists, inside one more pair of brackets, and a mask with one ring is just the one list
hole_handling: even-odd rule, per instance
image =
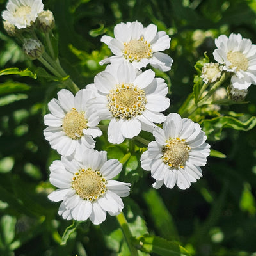
[[[211, 104], [211, 102], [208, 102], [207, 100], [209, 99], [209, 97], [212, 96], [212, 94], [214, 92], [216, 92], [216, 90], [221, 86], [221, 84], [225, 81], [225, 79], [226, 79], [226, 74], [223, 73], [220, 80], [213, 84], [213, 86], [211, 87], [209, 92], [202, 99], [200, 99], [197, 102], [197, 104], [195, 104], [194, 98], [192, 97], [191, 100], [187, 104], [186, 111], [184, 111], [182, 113], [182, 117], [188, 117], [188, 116], [192, 115], [196, 111], [196, 109], [204, 106], [205, 104]], [[206, 88], [207, 88], [207, 86], [202, 86], [202, 89], [200, 90], [200, 95], [202, 95], [204, 93]]]

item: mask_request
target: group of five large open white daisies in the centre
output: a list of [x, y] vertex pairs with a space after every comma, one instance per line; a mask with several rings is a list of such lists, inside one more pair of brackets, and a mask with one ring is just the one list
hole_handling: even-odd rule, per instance
[[[102, 135], [97, 127], [101, 120], [109, 120], [109, 143], [120, 144], [141, 131], [156, 137], [141, 156], [141, 167], [151, 170], [156, 179], [154, 188], [163, 183], [168, 188], [175, 184], [189, 188], [202, 176], [200, 166], [210, 152], [198, 124], [175, 113], [167, 117], [161, 113], [170, 106], [168, 86], [153, 70], [141, 70], [147, 64], [170, 70], [172, 58], [158, 52], [170, 47], [169, 36], [157, 32], [153, 24], [144, 28], [138, 21], [118, 24], [114, 31], [116, 38], [102, 37], [116, 54], [100, 62], [110, 63], [106, 69], [75, 96], [60, 90], [58, 99], [48, 104], [51, 113], [44, 116], [45, 139], [62, 156], [50, 167], [50, 181], [59, 189], [49, 198], [62, 201], [59, 214], [67, 220], [90, 218], [99, 224], [106, 212], [122, 211], [120, 196], [129, 195], [131, 184], [109, 180], [122, 170], [122, 164], [107, 161], [106, 152], [93, 149], [93, 138]], [[156, 125], [161, 123], [163, 129]]]

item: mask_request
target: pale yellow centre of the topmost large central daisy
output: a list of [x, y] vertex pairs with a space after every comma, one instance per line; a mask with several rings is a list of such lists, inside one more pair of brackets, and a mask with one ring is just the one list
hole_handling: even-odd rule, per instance
[[129, 43], [124, 43], [123, 50], [124, 58], [129, 61], [140, 61], [143, 58], [152, 57], [152, 48], [147, 41], [141, 37], [139, 40], [131, 40]]

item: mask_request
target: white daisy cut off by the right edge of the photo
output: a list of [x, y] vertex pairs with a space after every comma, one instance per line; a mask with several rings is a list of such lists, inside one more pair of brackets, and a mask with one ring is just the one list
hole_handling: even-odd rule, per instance
[[215, 44], [213, 56], [223, 65], [223, 70], [234, 73], [231, 77], [234, 88], [246, 90], [256, 84], [256, 45], [250, 39], [232, 33], [229, 38], [219, 36]]

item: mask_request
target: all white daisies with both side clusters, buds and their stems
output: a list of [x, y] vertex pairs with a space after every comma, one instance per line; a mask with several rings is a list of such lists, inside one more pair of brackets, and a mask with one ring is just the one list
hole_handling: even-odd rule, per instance
[[[6, 9], [2, 17], [8, 35], [17, 36], [26, 55], [38, 59], [54, 81], [62, 83], [57, 97], [48, 104], [44, 136], [61, 155], [50, 166], [49, 180], [58, 189], [48, 197], [61, 202], [58, 213], [67, 220], [90, 219], [98, 225], [106, 220], [107, 212], [120, 214], [122, 197], [129, 196], [132, 181], [115, 180], [122, 163], [95, 149], [101, 136], [106, 135], [106, 141], [113, 144], [141, 139], [147, 146], [138, 151], [142, 152], [141, 167], [156, 180], [153, 187], [164, 184], [188, 189], [202, 177], [210, 145], [200, 125], [193, 122], [196, 118], [187, 117], [193, 117], [201, 106], [218, 106], [212, 102], [223, 101], [227, 95], [229, 100], [244, 100], [248, 87], [256, 84], [256, 45], [240, 34], [221, 35], [213, 52], [217, 62], [209, 63], [208, 59], [201, 65], [201, 84], [196, 85], [194, 97], [186, 100], [188, 108], [180, 114], [170, 113], [168, 84], [156, 77], [155, 71], [171, 70], [173, 60], [167, 54], [171, 38], [165, 31], [157, 31], [154, 24], [144, 27], [134, 21], [117, 24], [114, 37], [102, 36], [113, 56], [99, 62], [108, 65], [93, 83], [78, 88], [51, 45], [54, 16], [44, 10], [42, 0], [9, 0]], [[46, 45], [36, 32], [44, 36]], [[223, 81], [228, 74], [231, 79], [226, 90]], [[144, 134], [155, 140], [146, 141]]]

